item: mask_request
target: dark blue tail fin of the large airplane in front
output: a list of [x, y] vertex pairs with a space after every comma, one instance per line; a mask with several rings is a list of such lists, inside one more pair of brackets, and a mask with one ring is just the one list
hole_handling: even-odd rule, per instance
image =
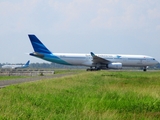
[[28, 35], [28, 36], [35, 52], [51, 54], [51, 51], [49, 51], [46, 48], [46, 46], [35, 35]]

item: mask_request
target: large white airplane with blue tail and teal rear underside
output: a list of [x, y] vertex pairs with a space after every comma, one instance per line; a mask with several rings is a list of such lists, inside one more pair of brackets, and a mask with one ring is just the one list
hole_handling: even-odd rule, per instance
[[122, 67], [142, 67], [146, 71], [148, 66], [159, 63], [146, 55], [52, 53], [34, 34], [28, 36], [34, 49], [29, 55], [63, 65], [86, 66], [87, 71]]

